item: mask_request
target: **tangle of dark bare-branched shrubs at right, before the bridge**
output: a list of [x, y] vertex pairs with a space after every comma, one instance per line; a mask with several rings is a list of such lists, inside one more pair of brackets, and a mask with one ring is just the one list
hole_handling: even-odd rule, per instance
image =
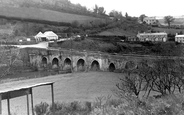
[[120, 79], [121, 83], [117, 84], [117, 88], [137, 98], [141, 92], [146, 97], [151, 92], [157, 92], [161, 96], [182, 93], [183, 68], [179, 59], [158, 59], [152, 65], [143, 60], [137, 68], [125, 71], [127, 75]]

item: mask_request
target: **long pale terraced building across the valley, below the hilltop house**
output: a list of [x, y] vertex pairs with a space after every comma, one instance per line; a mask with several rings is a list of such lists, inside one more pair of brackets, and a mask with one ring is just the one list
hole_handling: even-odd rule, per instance
[[167, 41], [167, 33], [138, 33], [137, 37], [139, 41], [152, 41], [152, 42], [166, 42]]

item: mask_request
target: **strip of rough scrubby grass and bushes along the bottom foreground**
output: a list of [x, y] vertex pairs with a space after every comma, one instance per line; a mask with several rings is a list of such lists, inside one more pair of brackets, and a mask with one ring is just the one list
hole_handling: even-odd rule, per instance
[[133, 96], [119, 99], [102, 96], [94, 102], [57, 102], [54, 106], [41, 102], [34, 110], [36, 115], [183, 115], [184, 97], [168, 95], [139, 100]]

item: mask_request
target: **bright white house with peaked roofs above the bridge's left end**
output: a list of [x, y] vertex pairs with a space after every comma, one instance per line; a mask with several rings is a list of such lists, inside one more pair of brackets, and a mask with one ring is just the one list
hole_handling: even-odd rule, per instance
[[46, 31], [45, 33], [39, 32], [35, 36], [36, 42], [40, 41], [53, 41], [53, 40], [58, 40], [58, 35], [55, 34], [52, 31]]

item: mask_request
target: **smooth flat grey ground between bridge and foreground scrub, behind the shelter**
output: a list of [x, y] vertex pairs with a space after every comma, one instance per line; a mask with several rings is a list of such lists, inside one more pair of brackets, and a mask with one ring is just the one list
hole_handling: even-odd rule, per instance
[[[122, 73], [87, 72], [49, 76], [22, 81], [13, 81], [0, 84], [0, 90], [10, 87], [24, 86], [41, 82], [54, 83], [54, 97], [56, 102], [94, 101], [95, 97], [113, 95], [112, 89]], [[51, 103], [50, 86], [42, 86], [33, 89], [34, 104], [40, 102]], [[11, 113], [14, 115], [26, 115], [26, 96], [10, 100]], [[30, 105], [31, 107], [31, 105]], [[2, 101], [2, 114], [7, 115], [6, 100]], [[31, 108], [30, 108], [31, 110]]]

